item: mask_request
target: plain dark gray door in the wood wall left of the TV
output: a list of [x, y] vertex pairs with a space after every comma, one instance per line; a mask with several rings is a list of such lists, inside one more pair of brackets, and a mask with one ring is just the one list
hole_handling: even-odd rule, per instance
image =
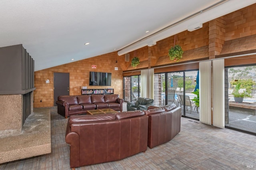
[[54, 73], [54, 106], [58, 96], [69, 95], [69, 73]]

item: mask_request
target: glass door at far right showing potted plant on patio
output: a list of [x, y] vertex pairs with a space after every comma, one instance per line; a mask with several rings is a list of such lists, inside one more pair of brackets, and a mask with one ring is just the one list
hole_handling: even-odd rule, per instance
[[229, 67], [225, 127], [256, 134], [256, 66]]

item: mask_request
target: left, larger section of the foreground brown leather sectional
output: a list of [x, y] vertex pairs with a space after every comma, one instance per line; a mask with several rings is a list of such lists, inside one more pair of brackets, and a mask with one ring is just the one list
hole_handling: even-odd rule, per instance
[[71, 168], [121, 160], [146, 151], [148, 116], [142, 111], [70, 116], [65, 139]]

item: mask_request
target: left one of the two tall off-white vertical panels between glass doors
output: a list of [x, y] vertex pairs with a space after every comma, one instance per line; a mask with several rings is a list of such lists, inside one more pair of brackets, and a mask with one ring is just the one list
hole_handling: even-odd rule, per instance
[[208, 125], [212, 124], [212, 61], [199, 63], [199, 121]]

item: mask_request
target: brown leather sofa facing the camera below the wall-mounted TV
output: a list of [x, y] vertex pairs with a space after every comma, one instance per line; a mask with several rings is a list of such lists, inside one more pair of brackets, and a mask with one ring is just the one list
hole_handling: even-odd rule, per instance
[[119, 95], [75, 95], [59, 96], [56, 104], [58, 114], [68, 118], [71, 115], [85, 114], [88, 110], [93, 109], [113, 109], [122, 112], [124, 99]]

